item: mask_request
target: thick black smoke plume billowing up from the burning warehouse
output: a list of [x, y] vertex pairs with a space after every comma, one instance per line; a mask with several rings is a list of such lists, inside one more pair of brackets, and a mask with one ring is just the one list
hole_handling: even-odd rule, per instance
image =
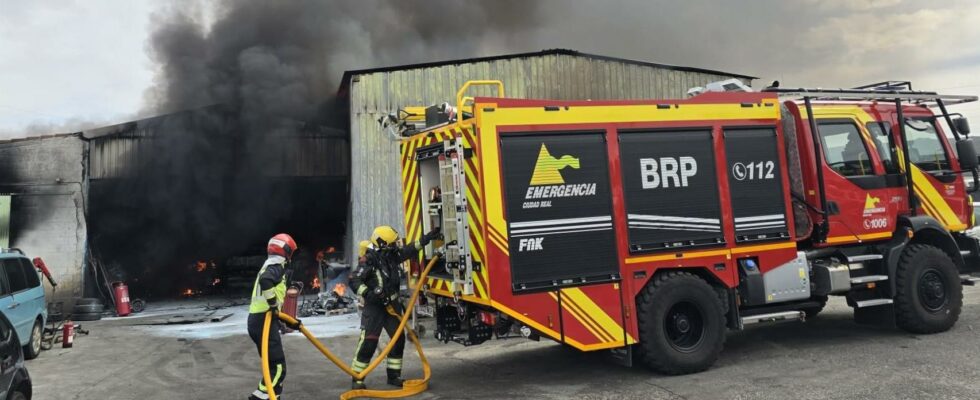
[[[307, 258], [341, 247], [347, 187], [366, 184], [346, 175], [347, 129], [333, 106], [343, 71], [514, 50], [537, 12], [510, 0], [212, 6], [153, 18], [157, 73], [143, 113], [167, 115], [92, 142], [93, 153], [135, 144], [109, 149], [122, 171], [93, 171], [89, 210], [93, 256], [141, 283], [135, 291], [175, 294], [185, 266], [262, 254], [280, 231]], [[300, 154], [321, 164], [300, 167], [310, 162]]]

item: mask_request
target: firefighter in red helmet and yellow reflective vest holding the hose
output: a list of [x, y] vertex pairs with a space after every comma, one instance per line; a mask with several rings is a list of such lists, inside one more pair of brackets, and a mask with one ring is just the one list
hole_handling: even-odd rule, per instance
[[[276, 315], [286, 297], [286, 268], [296, 253], [296, 241], [292, 236], [280, 233], [269, 239], [266, 247], [269, 257], [259, 270], [252, 288], [252, 304], [248, 308], [248, 336], [262, 355], [262, 327], [265, 314], [272, 310], [272, 324], [269, 328], [269, 373], [272, 387], [278, 397], [282, 394], [282, 382], [286, 379], [286, 354], [282, 351], [282, 338], [279, 336], [279, 317]], [[259, 378], [259, 388], [252, 392], [249, 400], [269, 398], [269, 388]]]

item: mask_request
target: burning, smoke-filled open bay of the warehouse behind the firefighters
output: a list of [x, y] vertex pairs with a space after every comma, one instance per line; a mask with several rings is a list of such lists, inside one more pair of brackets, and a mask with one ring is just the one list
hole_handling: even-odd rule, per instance
[[300, 251], [293, 281], [315, 286], [317, 254], [343, 248], [344, 131], [296, 121], [244, 127], [221, 107], [86, 132], [86, 291], [132, 297], [248, 296], [266, 242]]

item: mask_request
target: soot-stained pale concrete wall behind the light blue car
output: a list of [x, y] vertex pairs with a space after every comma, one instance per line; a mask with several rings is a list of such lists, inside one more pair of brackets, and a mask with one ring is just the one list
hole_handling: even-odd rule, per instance
[[41, 257], [57, 291], [48, 298], [82, 295], [85, 265], [87, 143], [78, 135], [0, 142], [0, 193], [11, 195], [11, 247]]

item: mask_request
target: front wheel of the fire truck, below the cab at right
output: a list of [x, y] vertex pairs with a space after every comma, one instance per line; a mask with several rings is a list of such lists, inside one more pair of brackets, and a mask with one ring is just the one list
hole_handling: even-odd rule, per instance
[[942, 250], [913, 244], [898, 260], [895, 322], [912, 333], [952, 328], [963, 306], [963, 286], [956, 265]]

